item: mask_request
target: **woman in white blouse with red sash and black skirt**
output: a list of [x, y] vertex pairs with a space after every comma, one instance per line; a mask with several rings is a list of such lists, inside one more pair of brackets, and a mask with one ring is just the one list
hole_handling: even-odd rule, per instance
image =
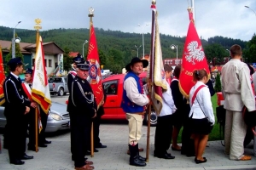
[[189, 92], [191, 138], [195, 141], [195, 163], [204, 163], [207, 162], [207, 158], [202, 157], [202, 154], [206, 148], [208, 134], [211, 133], [215, 120], [211, 94], [206, 85], [208, 82], [207, 71], [194, 71], [193, 79], [196, 83]]

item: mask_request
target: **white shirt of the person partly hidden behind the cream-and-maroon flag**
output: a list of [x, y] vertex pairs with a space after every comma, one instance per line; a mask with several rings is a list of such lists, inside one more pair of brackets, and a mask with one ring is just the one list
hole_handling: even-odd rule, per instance
[[174, 101], [172, 98], [172, 90], [170, 86], [167, 85], [167, 91], [163, 93], [162, 110], [160, 111], [159, 116], [172, 115], [176, 110], [177, 108], [174, 105]]

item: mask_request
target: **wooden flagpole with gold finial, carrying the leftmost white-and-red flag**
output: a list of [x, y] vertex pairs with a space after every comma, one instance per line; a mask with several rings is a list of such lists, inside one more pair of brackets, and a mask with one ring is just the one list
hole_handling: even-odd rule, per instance
[[[42, 26], [40, 26], [41, 24], [41, 20], [40, 19], [36, 19], [36, 26], [34, 26], [34, 28], [37, 30], [36, 33], [36, 49], [38, 49], [38, 43], [39, 43], [39, 29], [42, 29]], [[38, 107], [35, 109], [35, 150], [36, 152], [38, 152]]]

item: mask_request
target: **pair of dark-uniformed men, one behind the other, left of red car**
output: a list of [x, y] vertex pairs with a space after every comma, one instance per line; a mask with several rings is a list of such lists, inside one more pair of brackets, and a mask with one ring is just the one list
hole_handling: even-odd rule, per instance
[[[90, 83], [89, 76], [90, 63], [78, 54], [73, 58], [73, 70], [67, 76], [67, 88], [69, 97], [67, 111], [70, 115], [71, 128], [71, 153], [75, 169], [94, 169], [92, 161], [87, 161], [86, 155], [90, 155], [90, 132], [93, 122], [94, 152], [96, 148], [107, 148], [101, 143], [99, 138], [99, 128], [101, 116], [104, 114], [102, 105], [98, 108]], [[104, 99], [106, 99], [105, 92]]]

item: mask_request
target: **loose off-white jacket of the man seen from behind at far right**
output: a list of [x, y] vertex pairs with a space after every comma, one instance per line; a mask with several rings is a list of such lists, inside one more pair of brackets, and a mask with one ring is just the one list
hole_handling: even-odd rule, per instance
[[240, 59], [230, 59], [222, 67], [221, 74], [224, 109], [241, 111], [245, 105], [248, 111], [254, 111], [255, 99], [247, 64]]

